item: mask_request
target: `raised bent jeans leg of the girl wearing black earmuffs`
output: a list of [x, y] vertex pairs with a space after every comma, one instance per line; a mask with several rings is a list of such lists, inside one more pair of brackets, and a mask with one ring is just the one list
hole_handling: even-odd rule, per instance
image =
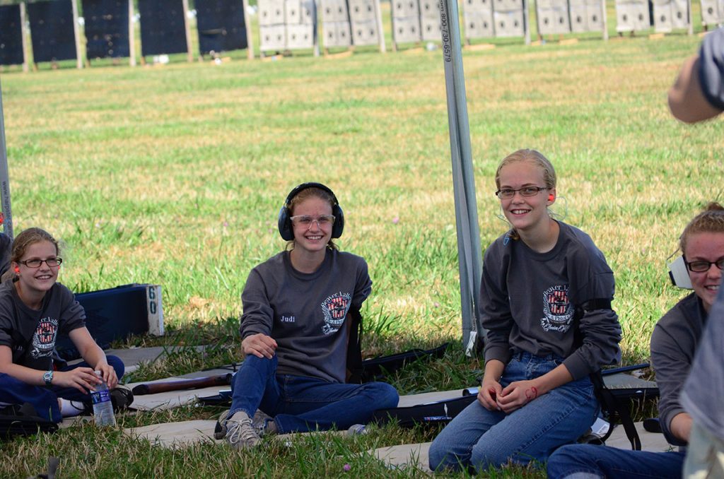
[[277, 355], [271, 359], [247, 355], [231, 382], [229, 417], [239, 411], [253, 417], [260, 406], [266, 414], [274, 415], [279, 402], [276, 373]]

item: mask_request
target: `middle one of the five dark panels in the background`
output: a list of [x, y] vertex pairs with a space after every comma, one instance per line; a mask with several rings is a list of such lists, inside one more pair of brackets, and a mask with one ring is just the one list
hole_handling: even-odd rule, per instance
[[130, 56], [128, 0], [83, 0], [83, 18], [89, 60]]

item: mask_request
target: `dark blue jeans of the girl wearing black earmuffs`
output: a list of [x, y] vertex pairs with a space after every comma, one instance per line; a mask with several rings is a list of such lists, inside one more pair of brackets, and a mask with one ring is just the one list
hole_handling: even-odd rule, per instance
[[387, 383], [330, 383], [306, 376], [277, 376], [277, 355], [247, 355], [231, 384], [229, 417], [257, 409], [274, 417], [279, 433], [327, 431], [368, 423], [374, 410], [396, 407], [400, 397]]

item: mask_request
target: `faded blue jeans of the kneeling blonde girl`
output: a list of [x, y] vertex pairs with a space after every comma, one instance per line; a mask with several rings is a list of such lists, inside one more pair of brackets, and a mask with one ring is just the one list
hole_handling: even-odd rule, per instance
[[[560, 365], [563, 358], [513, 355], [500, 384], [537, 378]], [[563, 444], [576, 441], [596, 419], [598, 401], [589, 378], [563, 384], [518, 410], [489, 411], [476, 401], [460, 412], [429, 451], [430, 469], [473, 468], [483, 472], [508, 460], [525, 465], [544, 462]]]

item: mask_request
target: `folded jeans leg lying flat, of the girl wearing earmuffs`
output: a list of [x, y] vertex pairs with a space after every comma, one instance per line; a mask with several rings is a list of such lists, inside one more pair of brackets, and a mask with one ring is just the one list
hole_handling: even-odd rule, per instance
[[396, 407], [397, 390], [387, 383], [329, 383], [303, 376], [280, 376], [282, 404], [274, 417], [279, 433], [346, 429], [368, 423], [377, 409]]

